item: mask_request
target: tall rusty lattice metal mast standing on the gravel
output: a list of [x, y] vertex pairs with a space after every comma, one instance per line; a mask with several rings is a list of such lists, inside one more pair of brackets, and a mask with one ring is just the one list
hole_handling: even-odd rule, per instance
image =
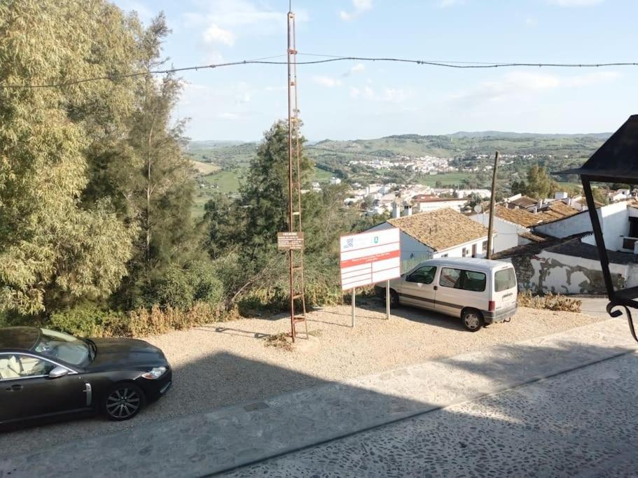
[[[301, 161], [299, 140], [299, 109], [297, 107], [297, 47], [295, 14], [289, 6], [288, 12], [288, 229], [289, 232], [303, 231], [301, 226]], [[306, 338], [306, 304], [303, 281], [303, 248], [289, 251], [290, 275], [290, 323], [291, 337], [296, 339], [296, 325], [303, 322]], [[297, 301], [297, 302], [296, 302]], [[300, 302], [300, 313], [295, 305]]]

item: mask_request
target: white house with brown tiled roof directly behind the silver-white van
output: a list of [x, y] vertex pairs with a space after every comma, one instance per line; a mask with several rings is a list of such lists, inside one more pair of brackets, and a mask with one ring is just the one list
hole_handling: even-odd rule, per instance
[[392, 218], [368, 231], [398, 227], [401, 260], [427, 258], [483, 258], [487, 252], [487, 229], [453, 209], [438, 209]]

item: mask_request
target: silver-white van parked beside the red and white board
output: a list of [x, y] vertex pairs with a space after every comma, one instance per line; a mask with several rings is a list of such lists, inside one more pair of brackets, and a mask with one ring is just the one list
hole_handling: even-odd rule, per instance
[[[385, 283], [375, 290], [385, 297]], [[391, 307], [407, 304], [460, 317], [471, 332], [516, 314], [517, 294], [514, 267], [498, 260], [430, 259], [390, 281]]]

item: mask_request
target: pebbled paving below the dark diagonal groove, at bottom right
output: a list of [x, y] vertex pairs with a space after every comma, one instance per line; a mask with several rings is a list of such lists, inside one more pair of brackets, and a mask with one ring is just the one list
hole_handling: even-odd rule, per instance
[[635, 477], [638, 355], [241, 468], [227, 477]]

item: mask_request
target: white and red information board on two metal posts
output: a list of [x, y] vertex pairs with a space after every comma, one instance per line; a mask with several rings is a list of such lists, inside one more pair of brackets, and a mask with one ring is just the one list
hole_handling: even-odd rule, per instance
[[355, 288], [377, 282], [385, 282], [386, 318], [390, 318], [390, 279], [401, 276], [400, 234], [392, 227], [340, 238], [341, 289], [352, 290], [352, 327]]

